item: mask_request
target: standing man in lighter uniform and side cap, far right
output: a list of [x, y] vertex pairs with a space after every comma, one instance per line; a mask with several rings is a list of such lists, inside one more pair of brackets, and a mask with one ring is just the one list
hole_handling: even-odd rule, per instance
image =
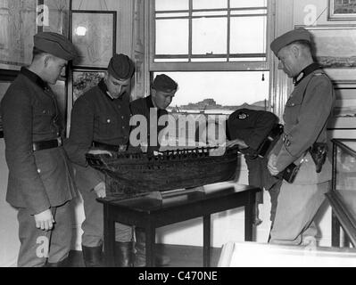
[[310, 46], [311, 36], [304, 28], [289, 31], [270, 45], [279, 60], [278, 68], [294, 78], [294, 91], [286, 102], [284, 134], [269, 156], [269, 172], [286, 175], [286, 169], [300, 167], [294, 182], [285, 178], [282, 183], [271, 243], [316, 245], [313, 219], [331, 179], [329, 160], [317, 172], [319, 163], [309, 151], [319, 143], [327, 152], [327, 119], [335, 102], [333, 85], [313, 61]]

